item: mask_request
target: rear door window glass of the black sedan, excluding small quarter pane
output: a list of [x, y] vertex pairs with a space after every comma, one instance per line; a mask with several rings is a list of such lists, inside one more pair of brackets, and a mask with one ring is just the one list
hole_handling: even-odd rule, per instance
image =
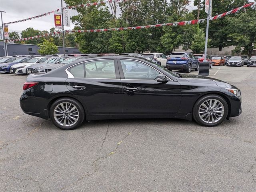
[[85, 63], [86, 78], [115, 79], [114, 60], [98, 60]]

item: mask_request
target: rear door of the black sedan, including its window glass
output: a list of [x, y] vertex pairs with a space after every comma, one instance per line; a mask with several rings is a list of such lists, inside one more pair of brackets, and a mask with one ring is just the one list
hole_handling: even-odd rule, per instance
[[67, 70], [68, 90], [82, 102], [87, 114], [121, 114], [122, 86], [116, 59], [96, 59]]

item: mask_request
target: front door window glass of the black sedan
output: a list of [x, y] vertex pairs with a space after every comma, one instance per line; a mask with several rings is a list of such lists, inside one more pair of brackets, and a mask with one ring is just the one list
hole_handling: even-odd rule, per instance
[[152, 67], [133, 60], [120, 60], [125, 79], [155, 80], [158, 71]]

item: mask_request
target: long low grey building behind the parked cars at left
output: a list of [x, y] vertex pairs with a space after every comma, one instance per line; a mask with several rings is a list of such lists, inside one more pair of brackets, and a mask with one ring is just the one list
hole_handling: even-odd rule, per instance
[[[8, 56], [13, 55], [39, 55], [38, 46], [30, 44], [6, 43]], [[64, 54], [63, 47], [58, 47], [57, 54]], [[79, 48], [65, 47], [65, 54], [81, 54]], [[4, 42], [0, 42], [0, 57], [4, 56]]]

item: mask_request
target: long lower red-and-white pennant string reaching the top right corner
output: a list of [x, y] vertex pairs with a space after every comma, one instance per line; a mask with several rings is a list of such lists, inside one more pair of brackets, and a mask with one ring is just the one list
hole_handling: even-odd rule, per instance
[[[253, 7], [256, 6], [256, 2], [252, 2], [249, 4], [246, 4], [242, 7], [235, 8], [233, 10], [230, 10], [228, 12], [213, 16], [210, 18], [210, 20], [216, 20], [219, 18], [223, 18], [229, 14], [235, 14], [239, 10], [243, 8], [248, 8], [248, 7]], [[134, 26], [134, 27], [120, 27], [120, 28], [108, 28], [108, 29], [90, 29], [90, 30], [65, 30], [66, 33], [84, 33], [84, 32], [104, 32], [104, 31], [122, 31], [122, 30], [137, 30], [137, 29], [145, 29], [145, 28], [157, 28], [157, 27], [162, 27], [162, 26], [184, 26], [184, 25], [195, 25], [198, 23], [203, 23], [207, 19], [199, 19], [199, 20], [190, 20], [190, 21], [180, 21], [180, 22], [172, 22], [172, 23], [164, 23], [164, 24], [155, 24], [155, 25], [146, 25], [146, 26]], [[6, 40], [6, 42], [10, 41], [24, 41], [24, 40], [30, 40], [34, 38], [40, 38], [40, 37], [45, 37], [45, 36], [50, 36], [50, 35], [56, 35], [62, 33], [61, 31], [53, 32], [53, 33], [47, 33], [43, 35], [38, 35], [34, 37], [28, 37], [28, 38], [20, 38], [20, 39], [12, 39], [12, 40]]]

